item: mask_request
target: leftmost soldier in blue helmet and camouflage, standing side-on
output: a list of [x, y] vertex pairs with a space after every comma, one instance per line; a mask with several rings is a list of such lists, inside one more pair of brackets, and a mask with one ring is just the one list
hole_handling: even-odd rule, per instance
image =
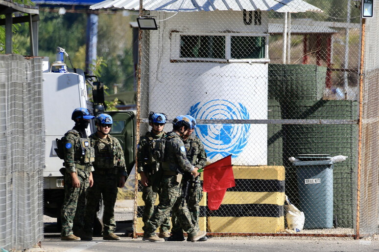
[[91, 147], [86, 133], [86, 128], [93, 118], [95, 116], [91, 115], [87, 108], [75, 108], [71, 115], [75, 126], [65, 135], [64, 161], [66, 171], [64, 178], [65, 199], [61, 210], [62, 241], [80, 240], [80, 237], [73, 234], [73, 224], [75, 233], [82, 233], [84, 229], [86, 191], [94, 184], [92, 162], [94, 161], [95, 151]]

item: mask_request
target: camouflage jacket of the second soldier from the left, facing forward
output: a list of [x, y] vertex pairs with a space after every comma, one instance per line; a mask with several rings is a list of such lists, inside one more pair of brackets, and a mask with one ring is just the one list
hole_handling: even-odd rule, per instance
[[91, 146], [95, 148], [95, 170], [116, 168], [119, 175], [127, 176], [124, 152], [116, 137], [107, 135], [101, 139], [94, 133], [90, 140]]

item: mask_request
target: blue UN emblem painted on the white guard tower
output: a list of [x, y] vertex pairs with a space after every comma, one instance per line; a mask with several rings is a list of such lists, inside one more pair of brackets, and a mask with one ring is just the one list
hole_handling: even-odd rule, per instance
[[[196, 119], [249, 119], [244, 105], [227, 100], [197, 103], [190, 107], [189, 114]], [[247, 144], [249, 129], [250, 124], [205, 124], [197, 125], [195, 133], [202, 140], [208, 158], [216, 155], [235, 158]]]

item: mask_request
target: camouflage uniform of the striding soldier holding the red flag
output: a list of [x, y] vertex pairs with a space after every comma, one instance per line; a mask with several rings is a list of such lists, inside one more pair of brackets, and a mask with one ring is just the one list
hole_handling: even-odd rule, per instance
[[192, 224], [190, 212], [186, 205], [182, 205], [180, 198], [182, 187], [181, 183], [177, 182], [176, 176], [178, 172], [190, 172], [193, 167], [186, 157], [186, 148], [182, 139], [175, 132], [167, 133], [165, 162], [162, 163], [162, 169], [162, 191], [159, 194], [159, 205], [146, 223], [143, 236], [154, 236], [157, 227], [169, 216], [171, 209], [175, 212], [183, 230], [190, 235], [196, 234], [196, 228]]

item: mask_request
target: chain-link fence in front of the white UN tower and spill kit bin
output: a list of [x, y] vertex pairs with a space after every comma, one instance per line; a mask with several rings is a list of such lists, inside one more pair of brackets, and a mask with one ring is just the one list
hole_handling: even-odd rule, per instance
[[[300, 235], [354, 236], [357, 202], [368, 204], [360, 211], [371, 216], [361, 216], [370, 222], [364, 232], [377, 232], [374, 98], [367, 100], [373, 114], [362, 131], [370, 148], [368, 157], [362, 150], [358, 170], [360, 1], [285, 2], [141, 1], [141, 16], [155, 18], [158, 28], [140, 31], [138, 133], [149, 130], [149, 111], [171, 120], [190, 114], [208, 162], [232, 155], [236, 187], [219, 210], [207, 209], [204, 193], [202, 230], [293, 235], [286, 230], [287, 195], [305, 214]], [[365, 77], [371, 85], [377, 84], [374, 65]], [[375, 87], [365, 90], [369, 96]], [[367, 174], [364, 162], [370, 162]], [[364, 201], [357, 197], [360, 187], [368, 193]], [[140, 195], [137, 234], [142, 211]]]

